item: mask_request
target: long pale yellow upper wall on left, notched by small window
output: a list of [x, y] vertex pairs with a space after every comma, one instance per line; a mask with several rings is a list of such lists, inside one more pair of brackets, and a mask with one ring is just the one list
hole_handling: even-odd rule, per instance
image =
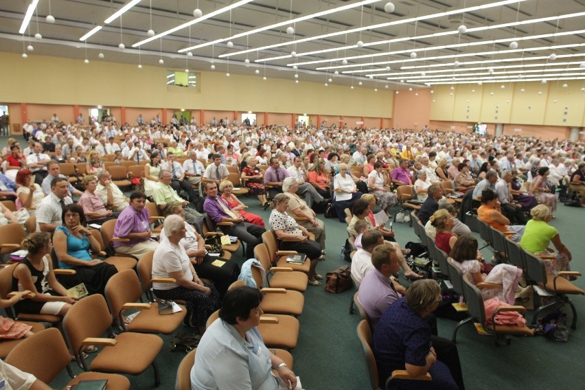
[[[1, 101], [392, 117], [393, 93], [203, 71], [198, 88], [167, 87], [166, 67], [0, 53]], [[200, 74], [200, 76], [199, 76]], [[291, 75], [292, 76], [292, 75]]]

